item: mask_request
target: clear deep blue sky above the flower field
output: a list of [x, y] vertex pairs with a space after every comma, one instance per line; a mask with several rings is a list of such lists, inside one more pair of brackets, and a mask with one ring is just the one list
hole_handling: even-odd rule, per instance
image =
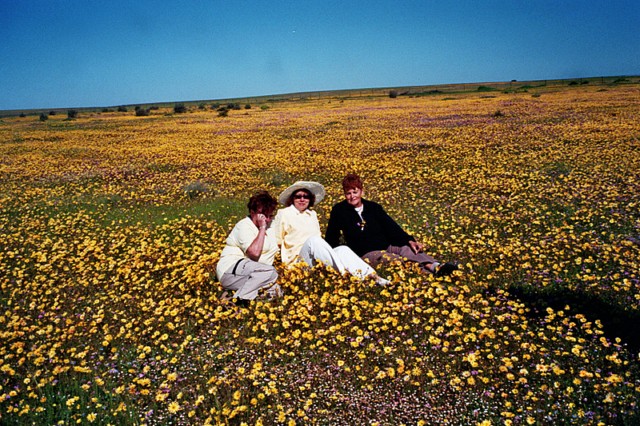
[[0, 0], [0, 110], [640, 74], [638, 0]]

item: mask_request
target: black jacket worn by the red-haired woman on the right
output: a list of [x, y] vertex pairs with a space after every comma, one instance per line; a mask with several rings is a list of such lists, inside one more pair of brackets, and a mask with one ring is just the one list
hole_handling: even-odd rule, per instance
[[363, 256], [370, 251], [386, 250], [390, 245], [402, 247], [414, 241], [380, 204], [365, 199], [362, 204], [364, 224], [346, 200], [333, 206], [325, 233], [325, 240], [331, 247], [339, 246], [342, 237], [351, 250]]

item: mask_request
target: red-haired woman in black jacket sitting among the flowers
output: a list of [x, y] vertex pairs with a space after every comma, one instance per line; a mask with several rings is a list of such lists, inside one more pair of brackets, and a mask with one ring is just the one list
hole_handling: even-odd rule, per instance
[[407, 234], [378, 203], [365, 200], [362, 179], [348, 174], [342, 181], [345, 199], [333, 206], [325, 233], [335, 247], [340, 237], [372, 266], [385, 260], [407, 259], [420, 264], [425, 272], [437, 277], [458, 269], [455, 263], [440, 264], [422, 251], [423, 244]]

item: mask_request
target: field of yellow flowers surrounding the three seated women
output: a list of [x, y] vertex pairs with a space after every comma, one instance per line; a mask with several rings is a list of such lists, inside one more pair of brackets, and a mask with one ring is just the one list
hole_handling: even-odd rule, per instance
[[[0, 120], [1, 424], [640, 422], [640, 85]], [[448, 278], [215, 265], [258, 189], [362, 175]], [[629, 331], [631, 330], [631, 331]]]

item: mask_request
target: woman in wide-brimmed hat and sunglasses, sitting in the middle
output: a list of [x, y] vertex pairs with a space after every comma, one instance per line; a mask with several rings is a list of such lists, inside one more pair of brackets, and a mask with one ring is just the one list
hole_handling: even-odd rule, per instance
[[282, 262], [289, 265], [304, 261], [313, 266], [321, 261], [340, 273], [349, 272], [361, 279], [371, 277], [378, 284], [388, 284], [349, 247], [331, 248], [322, 238], [318, 215], [311, 207], [324, 196], [324, 187], [318, 182], [298, 181], [278, 197], [278, 201], [286, 206], [278, 210], [273, 225]]

